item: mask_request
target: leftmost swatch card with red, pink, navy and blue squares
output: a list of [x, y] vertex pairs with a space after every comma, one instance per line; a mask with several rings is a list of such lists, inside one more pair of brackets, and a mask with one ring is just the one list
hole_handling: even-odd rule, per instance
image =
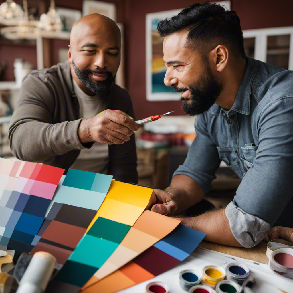
[[30, 252], [64, 169], [2, 158], [0, 168], [0, 248]]

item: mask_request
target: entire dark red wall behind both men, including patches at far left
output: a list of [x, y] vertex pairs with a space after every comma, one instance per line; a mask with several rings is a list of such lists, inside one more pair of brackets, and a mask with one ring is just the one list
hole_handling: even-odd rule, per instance
[[[117, 5], [117, 21], [125, 30], [125, 77], [126, 87], [132, 97], [137, 119], [149, 115], [176, 110], [174, 115], [183, 115], [180, 101], [149, 102], [146, 100], [145, 83], [145, 17], [146, 13], [179, 9], [196, 0], [104, 0]], [[0, 1], [0, 2], [3, 2]], [[56, 6], [82, 9], [81, 0], [55, 0]], [[292, 0], [231, 0], [231, 9], [241, 20], [242, 29], [267, 28], [293, 25]], [[53, 40], [52, 59], [57, 60], [57, 48], [67, 47], [66, 41]], [[9, 70], [2, 78], [13, 80], [13, 60], [19, 55], [33, 62], [36, 68], [35, 47], [15, 47], [0, 44], [0, 61], [9, 60]], [[12, 66], [12, 67], [11, 67]], [[9, 73], [9, 74], [8, 74]]]

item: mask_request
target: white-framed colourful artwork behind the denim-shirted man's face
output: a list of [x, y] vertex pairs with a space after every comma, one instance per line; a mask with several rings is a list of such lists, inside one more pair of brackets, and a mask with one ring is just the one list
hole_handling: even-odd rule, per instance
[[[231, 9], [231, 1], [211, 2]], [[148, 13], [146, 15], [146, 91], [148, 101], [180, 100], [180, 93], [163, 82], [166, 65], [163, 62], [163, 39], [156, 31], [159, 21], [178, 14], [181, 9]]]

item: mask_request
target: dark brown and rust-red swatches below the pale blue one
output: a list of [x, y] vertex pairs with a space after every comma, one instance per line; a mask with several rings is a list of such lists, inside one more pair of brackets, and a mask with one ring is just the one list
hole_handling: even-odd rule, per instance
[[95, 210], [54, 202], [31, 251], [47, 251], [64, 264], [90, 224]]

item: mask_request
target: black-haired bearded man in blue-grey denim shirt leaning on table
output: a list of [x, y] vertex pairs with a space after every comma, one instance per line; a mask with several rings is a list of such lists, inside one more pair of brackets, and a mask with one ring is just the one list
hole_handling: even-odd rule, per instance
[[183, 224], [231, 246], [252, 247], [266, 235], [292, 241], [293, 72], [246, 57], [239, 17], [216, 4], [187, 7], [157, 30], [164, 83], [197, 115], [197, 137], [170, 186], [154, 190], [151, 210], [172, 216], [196, 207], [223, 160], [242, 179], [234, 200]]

